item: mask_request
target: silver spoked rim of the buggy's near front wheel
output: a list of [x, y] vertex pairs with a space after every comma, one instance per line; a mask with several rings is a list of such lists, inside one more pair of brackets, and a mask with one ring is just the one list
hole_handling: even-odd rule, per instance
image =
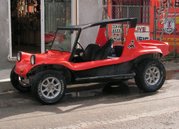
[[56, 77], [48, 77], [40, 84], [40, 92], [47, 99], [56, 98], [60, 94], [61, 89], [61, 82]]

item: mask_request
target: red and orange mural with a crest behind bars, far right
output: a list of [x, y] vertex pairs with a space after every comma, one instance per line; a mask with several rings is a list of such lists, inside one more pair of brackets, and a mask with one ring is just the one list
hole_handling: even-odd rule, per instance
[[170, 44], [170, 51], [179, 53], [179, 0], [156, 1], [157, 39]]

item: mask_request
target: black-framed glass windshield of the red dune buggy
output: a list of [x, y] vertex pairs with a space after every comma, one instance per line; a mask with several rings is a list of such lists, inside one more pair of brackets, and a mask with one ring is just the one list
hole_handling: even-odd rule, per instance
[[59, 30], [56, 33], [51, 49], [71, 52], [72, 50], [71, 36], [73, 33], [74, 31], [72, 30]]

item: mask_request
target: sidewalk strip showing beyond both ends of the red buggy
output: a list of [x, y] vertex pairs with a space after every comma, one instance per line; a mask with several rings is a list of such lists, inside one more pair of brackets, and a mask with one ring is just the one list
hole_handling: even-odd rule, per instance
[[[164, 65], [167, 71], [179, 70], [179, 62], [169, 61]], [[10, 72], [11, 69], [0, 70], [0, 93], [14, 90], [10, 83]]]

